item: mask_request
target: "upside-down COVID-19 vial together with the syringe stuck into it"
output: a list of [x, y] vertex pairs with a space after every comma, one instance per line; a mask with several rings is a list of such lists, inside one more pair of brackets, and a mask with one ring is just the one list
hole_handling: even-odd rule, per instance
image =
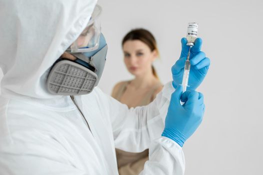
[[186, 91], [186, 88], [188, 86], [188, 79], [189, 79], [189, 74], [190, 74], [190, 50], [191, 47], [194, 46], [194, 41], [197, 38], [197, 32], [198, 32], [198, 24], [195, 22], [190, 22], [188, 23], [187, 27], [187, 43], [186, 45], [189, 45], [189, 51], [187, 54], [187, 58], [185, 61], [184, 65], [184, 71], [183, 71], [183, 80], [182, 80], [182, 86], [183, 86], [183, 92]]

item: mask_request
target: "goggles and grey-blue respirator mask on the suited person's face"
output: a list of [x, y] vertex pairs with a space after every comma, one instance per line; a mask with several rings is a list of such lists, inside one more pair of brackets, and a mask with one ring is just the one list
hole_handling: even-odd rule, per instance
[[60, 57], [51, 67], [48, 91], [57, 95], [82, 95], [98, 85], [107, 54], [107, 43], [101, 33], [101, 7], [95, 6], [91, 19], [80, 36], [66, 50], [76, 59]]

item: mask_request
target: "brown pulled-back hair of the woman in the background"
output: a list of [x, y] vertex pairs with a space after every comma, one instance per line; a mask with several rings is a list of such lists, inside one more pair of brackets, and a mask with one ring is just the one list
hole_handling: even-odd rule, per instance
[[[128, 32], [122, 39], [122, 46], [127, 40], [140, 40], [144, 42], [146, 45], [148, 45], [151, 51], [156, 50], [159, 56], [159, 50], [157, 48], [156, 40], [150, 31], [144, 28], [133, 29], [130, 32]], [[159, 79], [157, 72], [155, 71], [155, 68], [153, 67], [153, 65], [152, 65], [152, 73], [156, 78]]]

